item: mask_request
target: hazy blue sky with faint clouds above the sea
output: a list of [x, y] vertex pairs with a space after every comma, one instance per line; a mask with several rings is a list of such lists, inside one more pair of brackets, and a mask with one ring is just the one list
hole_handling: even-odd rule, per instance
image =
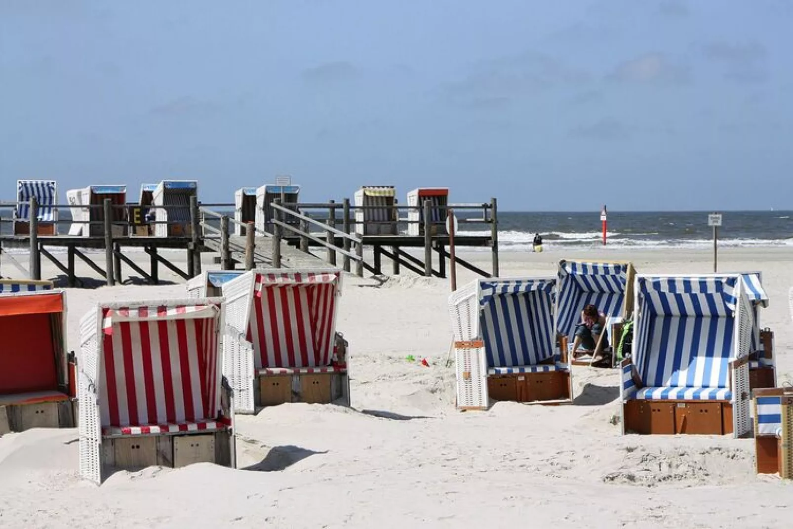
[[0, 199], [288, 174], [501, 210], [791, 209], [788, 0], [0, 1]]

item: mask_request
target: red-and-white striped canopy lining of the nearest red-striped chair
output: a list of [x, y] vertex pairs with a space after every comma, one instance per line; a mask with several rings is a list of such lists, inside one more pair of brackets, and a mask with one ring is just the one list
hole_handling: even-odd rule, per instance
[[215, 419], [220, 409], [220, 306], [103, 309], [102, 427]]

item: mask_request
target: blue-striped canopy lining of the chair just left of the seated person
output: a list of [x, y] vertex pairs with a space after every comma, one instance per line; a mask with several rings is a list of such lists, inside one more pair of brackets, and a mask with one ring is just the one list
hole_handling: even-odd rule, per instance
[[488, 368], [534, 366], [554, 356], [555, 278], [480, 282]]

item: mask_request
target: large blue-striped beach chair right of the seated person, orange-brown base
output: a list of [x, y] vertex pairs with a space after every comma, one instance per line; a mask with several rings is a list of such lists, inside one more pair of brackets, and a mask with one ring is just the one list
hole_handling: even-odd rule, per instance
[[752, 309], [739, 274], [639, 274], [623, 433], [745, 435]]

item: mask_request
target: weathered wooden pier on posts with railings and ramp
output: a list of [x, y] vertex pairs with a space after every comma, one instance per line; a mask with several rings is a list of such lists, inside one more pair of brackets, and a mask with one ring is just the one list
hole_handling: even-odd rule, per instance
[[[55, 209], [73, 208], [101, 208], [103, 220], [80, 222], [79, 224], [102, 224], [103, 236], [69, 236], [69, 235], [41, 235], [36, 226], [36, 200], [29, 202], [30, 223], [27, 233], [14, 235], [5, 233], [4, 223], [9, 223], [7, 218], [0, 219], [0, 275], [9, 275], [9, 265], [15, 269], [15, 276], [26, 276], [31, 279], [41, 278], [41, 259], [48, 259], [66, 278], [66, 286], [82, 286], [82, 278], [75, 271], [75, 263], [79, 259], [109, 286], [125, 280], [125, 269], [134, 272], [144, 281], [151, 284], [159, 282], [159, 270], [164, 266], [178, 277], [188, 279], [201, 274], [201, 255], [209, 252], [216, 255], [215, 262], [224, 270], [243, 267], [250, 270], [253, 267], [310, 267], [321, 266], [328, 263], [342, 266], [348, 272], [358, 276], [364, 275], [364, 270], [371, 274], [383, 274], [383, 258], [392, 262], [391, 273], [400, 274], [402, 269], [413, 273], [431, 277], [446, 277], [447, 260], [450, 259], [448, 250], [450, 236], [446, 234], [443, 226], [430, 222], [430, 205], [426, 201], [419, 206], [424, 209], [423, 234], [409, 236], [404, 234], [393, 235], [364, 235], [356, 233], [353, 213], [355, 209], [366, 209], [371, 206], [353, 206], [349, 199], [343, 201], [329, 201], [324, 204], [297, 204], [285, 207], [280, 199], [276, 199], [270, 206], [274, 218], [270, 219], [270, 229], [262, 229], [252, 222], [241, 223], [235, 220], [233, 213], [228, 212], [232, 204], [201, 205], [196, 197], [191, 197], [190, 220], [182, 222], [182, 227], [177, 232], [182, 236], [153, 236], [153, 230], [144, 230], [139, 233], [140, 224], [120, 223], [113, 221], [118, 215], [113, 215], [113, 208], [124, 208], [133, 211], [138, 208], [136, 204], [113, 205], [105, 200], [99, 206], [71, 206], [56, 205]], [[16, 203], [0, 203], [3, 208], [16, 209]], [[169, 209], [184, 206], [156, 206], [158, 209]], [[411, 209], [409, 206], [389, 206], [399, 212]], [[485, 224], [481, 235], [455, 235], [456, 247], [489, 247], [491, 248], [492, 269], [488, 272], [480, 267], [468, 263], [463, 259], [455, 259], [458, 265], [485, 277], [498, 275], [498, 232], [496, 199], [482, 204], [448, 205], [443, 206], [448, 210], [458, 213], [459, 224]], [[415, 209], [415, 208], [414, 208]], [[477, 216], [468, 213], [477, 212]], [[339, 217], [341, 213], [341, 217]], [[462, 214], [460, 214], [462, 213]], [[126, 215], [125, 215], [126, 217]], [[139, 219], [140, 212], [130, 214], [129, 218]], [[404, 224], [404, 217], [399, 219]], [[58, 224], [71, 224], [71, 220], [60, 220]], [[170, 222], [151, 221], [144, 225], [176, 224]], [[232, 235], [235, 231], [232, 224], [242, 224], [244, 236]], [[121, 232], [123, 235], [118, 235]], [[65, 248], [65, 262], [63, 254], [56, 254], [48, 250], [52, 247]], [[365, 248], [371, 252], [365, 253]], [[29, 261], [27, 268], [24, 263], [19, 263], [10, 248], [27, 248]], [[125, 254], [127, 248], [143, 248], [148, 255], [148, 266], [141, 266]], [[423, 259], [416, 257], [416, 252], [409, 252], [412, 248], [424, 248]], [[86, 249], [104, 250], [104, 263], [91, 259]], [[186, 269], [167, 259], [163, 250], [182, 250], [186, 252]], [[368, 253], [371, 253], [371, 262], [367, 262]], [[102, 255], [102, 254], [99, 254]], [[339, 263], [339, 261], [341, 263]], [[435, 263], [436, 266], [433, 265]], [[145, 269], [147, 268], [147, 270]], [[129, 277], [129, 276], [127, 276]]]

